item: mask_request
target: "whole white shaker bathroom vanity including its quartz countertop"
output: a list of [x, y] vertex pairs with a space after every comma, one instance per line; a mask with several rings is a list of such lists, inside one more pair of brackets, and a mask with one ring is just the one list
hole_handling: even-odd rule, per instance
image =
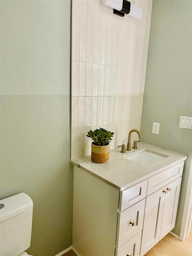
[[143, 256], [175, 226], [187, 156], [140, 143], [105, 164], [74, 165], [73, 247], [81, 256]]

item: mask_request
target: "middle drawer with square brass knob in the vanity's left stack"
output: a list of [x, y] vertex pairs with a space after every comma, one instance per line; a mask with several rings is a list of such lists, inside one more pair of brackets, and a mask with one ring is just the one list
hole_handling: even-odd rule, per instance
[[129, 241], [142, 230], [144, 210], [145, 199], [125, 211], [118, 213], [117, 248]]

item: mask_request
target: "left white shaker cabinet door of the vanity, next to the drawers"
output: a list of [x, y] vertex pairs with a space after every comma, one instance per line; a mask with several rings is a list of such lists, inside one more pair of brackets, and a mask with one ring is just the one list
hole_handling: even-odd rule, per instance
[[156, 191], [146, 199], [141, 255], [148, 252], [159, 241], [164, 200], [163, 189]]

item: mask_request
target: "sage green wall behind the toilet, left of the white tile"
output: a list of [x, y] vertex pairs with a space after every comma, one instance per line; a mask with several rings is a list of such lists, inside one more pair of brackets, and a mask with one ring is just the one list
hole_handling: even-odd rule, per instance
[[70, 0], [1, 1], [1, 198], [34, 202], [31, 247], [72, 244]]

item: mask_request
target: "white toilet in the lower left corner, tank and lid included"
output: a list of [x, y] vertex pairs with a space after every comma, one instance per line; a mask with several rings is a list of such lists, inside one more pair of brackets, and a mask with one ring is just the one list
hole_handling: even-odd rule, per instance
[[[0, 200], [0, 255], [28, 256], [33, 201], [25, 193]], [[32, 256], [32, 255], [31, 255]]]

